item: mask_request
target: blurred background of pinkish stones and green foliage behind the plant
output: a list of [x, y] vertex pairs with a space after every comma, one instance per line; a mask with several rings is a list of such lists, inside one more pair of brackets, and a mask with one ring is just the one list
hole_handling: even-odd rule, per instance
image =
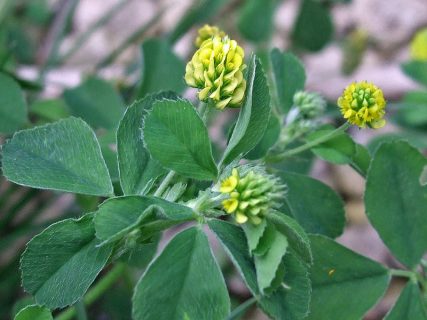
[[[306, 89], [330, 102], [331, 118], [345, 86], [374, 82], [389, 102], [388, 123], [378, 131], [353, 128], [354, 139], [369, 150], [395, 137], [427, 149], [427, 73], [420, 79], [404, 67], [414, 58], [411, 40], [427, 27], [426, 0], [0, 0], [0, 71], [19, 83], [28, 110], [20, 122], [0, 130], [0, 143], [18, 129], [80, 116], [96, 129], [117, 178], [117, 118], [132, 101], [160, 89], [194, 99], [182, 77], [205, 23], [226, 31], [247, 56], [254, 51], [263, 58], [273, 47], [296, 54], [306, 68]], [[213, 123], [211, 136], [219, 144], [232, 116], [221, 114]], [[304, 170], [346, 202], [348, 225], [339, 242], [397, 267], [365, 216], [364, 180], [348, 166], [321, 160]], [[13, 318], [30, 299], [18, 271], [26, 241], [100, 201], [24, 188], [0, 176], [0, 319]], [[220, 250], [232, 297], [244, 301], [249, 292]], [[90, 308], [90, 318], [130, 319], [132, 283], [140, 272], [130, 270], [128, 279]], [[382, 319], [402, 284], [394, 281], [366, 319]], [[266, 317], [253, 311], [246, 319]]]

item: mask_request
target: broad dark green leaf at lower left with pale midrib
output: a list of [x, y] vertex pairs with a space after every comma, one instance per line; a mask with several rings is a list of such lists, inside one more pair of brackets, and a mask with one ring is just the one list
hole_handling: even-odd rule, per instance
[[92, 219], [54, 223], [27, 244], [22, 284], [38, 304], [53, 309], [75, 303], [104, 268], [112, 247], [98, 247]]

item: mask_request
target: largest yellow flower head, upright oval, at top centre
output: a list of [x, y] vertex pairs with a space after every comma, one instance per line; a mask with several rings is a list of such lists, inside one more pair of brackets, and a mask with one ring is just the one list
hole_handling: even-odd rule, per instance
[[185, 82], [200, 89], [201, 101], [216, 108], [238, 107], [245, 94], [243, 49], [228, 37], [205, 40], [185, 69]]

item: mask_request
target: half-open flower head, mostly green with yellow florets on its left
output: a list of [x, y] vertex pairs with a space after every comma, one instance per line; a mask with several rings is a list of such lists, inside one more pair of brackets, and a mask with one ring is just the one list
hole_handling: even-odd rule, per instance
[[283, 198], [285, 186], [262, 168], [241, 168], [240, 172], [234, 168], [231, 175], [222, 180], [219, 191], [229, 196], [222, 201], [222, 206], [237, 223], [257, 225], [270, 209], [279, 206], [277, 200]]

